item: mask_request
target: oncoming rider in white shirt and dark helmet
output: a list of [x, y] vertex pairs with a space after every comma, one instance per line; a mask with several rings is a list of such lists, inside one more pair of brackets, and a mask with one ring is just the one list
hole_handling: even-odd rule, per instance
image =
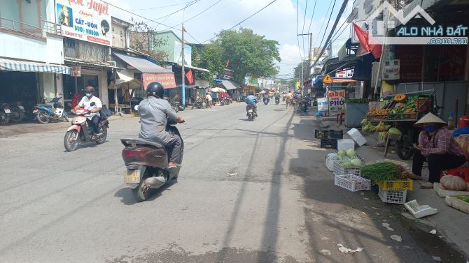
[[98, 97], [93, 96], [94, 87], [88, 86], [85, 88], [85, 96], [81, 98], [78, 105], [75, 106], [74, 110], [78, 110], [80, 107], [84, 107], [86, 110], [91, 106], [91, 103], [95, 103], [95, 107], [89, 110], [90, 116], [87, 117], [86, 122], [93, 129], [91, 140], [97, 140], [99, 137], [99, 111], [103, 107], [101, 100]]

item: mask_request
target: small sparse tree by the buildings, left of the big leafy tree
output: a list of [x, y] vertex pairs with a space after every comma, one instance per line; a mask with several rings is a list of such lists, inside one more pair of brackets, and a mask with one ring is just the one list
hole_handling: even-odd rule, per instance
[[132, 18], [132, 27], [130, 27], [131, 44], [130, 47], [138, 52], [156, 59], [158, 65], [164, 66], [168, 61], [168, 54], [165, 51], [158, 50], [161, 45], [166, 45], [167, 40], [158, 38], [156, 30], [148, 26], [145, 22], [137, 22]]

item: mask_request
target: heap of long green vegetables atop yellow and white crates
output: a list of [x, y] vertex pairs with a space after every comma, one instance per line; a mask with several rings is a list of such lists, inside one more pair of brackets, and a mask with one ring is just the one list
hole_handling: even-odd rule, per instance
[[402, 170], [398, 165], [391, 162], [373, 163], [365, 165], [361, 173], [374, 183], [381, 181], [394, 181], [402, 179]]

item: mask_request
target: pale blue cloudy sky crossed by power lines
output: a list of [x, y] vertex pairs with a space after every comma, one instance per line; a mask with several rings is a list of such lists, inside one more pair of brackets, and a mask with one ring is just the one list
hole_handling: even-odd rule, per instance
[[[200, 0], [188, 6], [184, 10], [184, 14], [182, 11], [176, 11], [183, 9], [190, 0], [109, 0], [109, 3], [124, 9], [120, 10], [111, 6], [111, 15], [114, 17], [126, 21], [133, 17], [134, 20], [148, 22], [148, 20], [129, 13], [132, 12], [177, 29], [181, 28], [180, 24], [183, 21], [183, 15], [184, 20], [188, 20], [205, 10], [202, 14], [185, 22], [184, 26], [188, 34], [190, 34], [190, 36], [186, 35], [186, 39], [190, 43], [207, 43], [205, 41], [213, 38], [222, 29], [230, 29], [272, 1]], [[315, 1], [316, 7], [313, 15]], [[240, 24], [237, 28], [246, 27], [253, 29], [254, 33], [265, 36], [267, 39], [277, 40], [282, 60], [278, 64], [280, 70], [279, 77], [291, 77], [293, 68], [302, 59], [307, 59], [308, 57], [309, 42], [307, 36], [304, 36], [304, 38], [300, 36], [298, 39], [297, 33], [313, 33], [313, 43], [316, 43], [314, 47], [318, 47], [321, 39], [328, 36], [327, 34], [324, 36], [325, 25], [330, 15], [330, 12], [326, 12], [332, 6], [332, 3], [334, 3], [332, 0], [276, 0], [270, 6], [260, 11], [260, 13]], [[339, 24], [337, 24], [337, 29], [351, 13], [352, 3], [353, 1], [349, 0], [347, 8], [341, 20], [339, 20]], [[341, 5], [342, 0], [336, 0], [328, 32], [332, 28]], [[174, 14], [169, 15], [171, 13]], [[311, 15], [313, 15], [312, 23], [311, 28], [309, 28]], [[171, 29], [155, 22], [148, 22], [148, 24], [157, 31]], [[320, 31], [321, 25], [323, 25], [323, 28]], [[171, 30], [176, 35], [181, 36], [181, 31], [176, 29]], [[338, 34], [336, 38], [349, 38], [349, 33], [349, 29], [344, 29], [343, 33]]]

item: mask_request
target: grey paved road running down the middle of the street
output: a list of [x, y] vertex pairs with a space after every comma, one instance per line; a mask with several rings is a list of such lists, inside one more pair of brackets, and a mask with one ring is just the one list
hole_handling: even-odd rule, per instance
[[181, 112], [179, 182], [141, 203], [121, 189], [119, 139], [136, 137], [137, 118], [71, 153], [62, 128], [1, 138], [0, 261], [431, 261], [400, 227], [401, 206], [334, 186], [314, 117], [284, 104], [258, 112], [254, 122], [241, 104]]

